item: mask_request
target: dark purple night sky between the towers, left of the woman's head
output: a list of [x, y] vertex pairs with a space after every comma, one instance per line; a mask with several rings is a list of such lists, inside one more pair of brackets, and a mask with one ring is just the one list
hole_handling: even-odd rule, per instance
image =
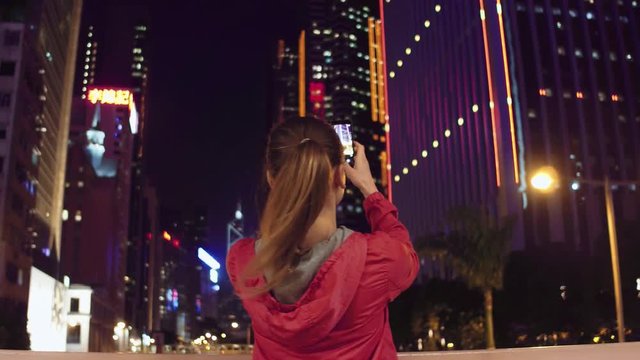
[[238, 199], [255, 227], [271, 59], [300, 28], [296, 3], [148, 2], [148, 170], [164, 208], [210, 207], [216, 242]]

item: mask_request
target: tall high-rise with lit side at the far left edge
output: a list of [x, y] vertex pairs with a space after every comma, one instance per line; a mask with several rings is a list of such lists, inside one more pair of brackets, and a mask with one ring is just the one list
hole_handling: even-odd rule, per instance
[[[0, 4], [0, 311], [16, 317], [10, 324], [16, 334], [26, 333], [31, 266], [60, 280], [62, 192], [81, 7], [80, 0]], [[22, 340], [13, 342], [0, 346], [25, 346]]]

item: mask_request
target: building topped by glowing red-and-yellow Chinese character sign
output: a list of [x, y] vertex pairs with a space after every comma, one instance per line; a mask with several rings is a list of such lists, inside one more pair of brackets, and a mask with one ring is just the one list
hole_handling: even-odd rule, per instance
[[133, 136], [138, 119], [129, 89], [91, 87], [74, 104], [63, 220], [62, 271], [91, 286], [90, 351], [111, 351], [124, 320]]

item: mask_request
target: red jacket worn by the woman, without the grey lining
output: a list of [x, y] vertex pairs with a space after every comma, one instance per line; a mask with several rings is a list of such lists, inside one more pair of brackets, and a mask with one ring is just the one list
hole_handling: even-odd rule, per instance
[[[380, 193], [364, 201], [372, 234], [353, 233], [320, 266], [292, 305], [271, 294], [244, 299], [255, 337], [254, 359], [396, 359], [388, 303], [416, 277], [418, 257], [397, 209]], [[238, 290], [255, 255], [254, 239], [237, 242], [227, 272]], [[264, 278], [246, 280], [248, 287]]]

